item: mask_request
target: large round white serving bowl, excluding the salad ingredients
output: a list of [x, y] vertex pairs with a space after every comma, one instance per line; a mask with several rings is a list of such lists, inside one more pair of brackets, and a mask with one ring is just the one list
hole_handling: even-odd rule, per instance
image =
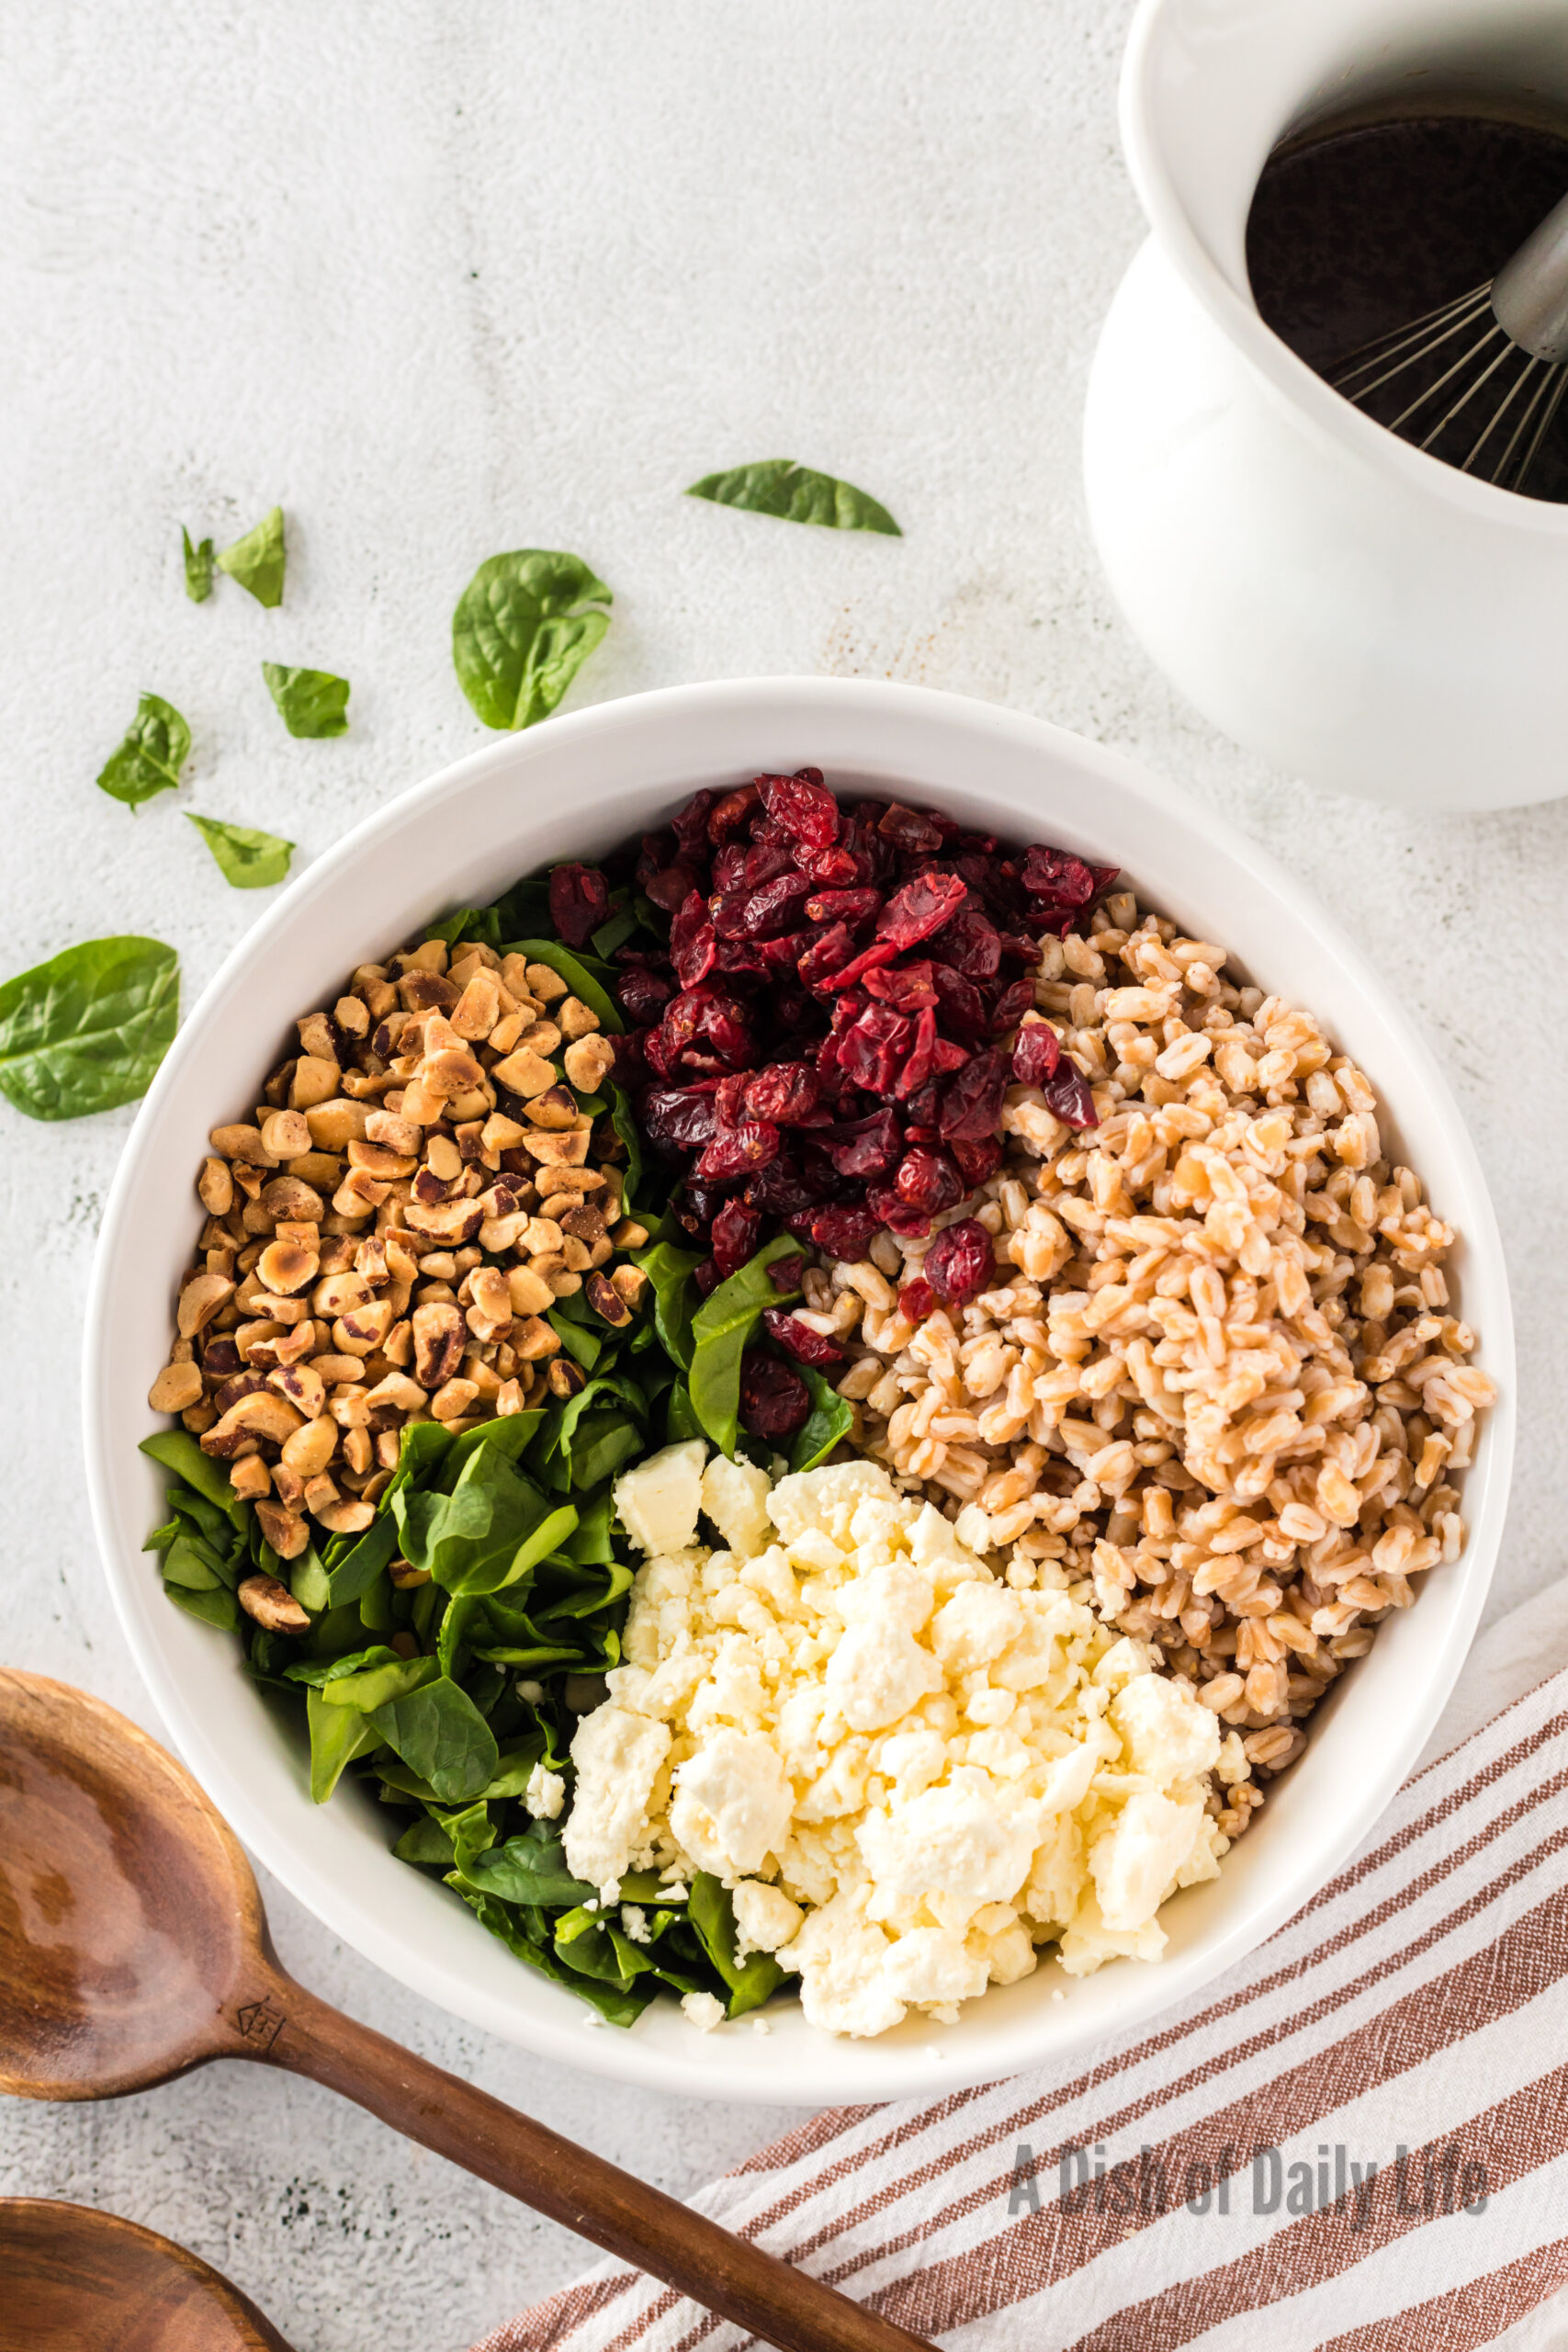
[[[1048, 1964], [971, 2002], [952, 2027], [910, 2018], [877, 2042], [818, 2034], [795, 2004], [771, 2011], [769, 2037], [748, 2020], [698, 2034], [665, 2002], [630, 2032], [588, 2032], [581, 2002], [512, 1959], [444, 1886], [393, 1860], [381, 1806], [350, 1788], [310, 1804], [303, 1738], [247, 1682], [237, 1644], [162, 1595], [141, 1550], [162, 1517], [162, 1477], [136, 1442], [158, 1425], [146, 1392], [195, 1242], [207, 1129], [244, 1115], [292, 1021], [451, 906], [484, 903], [545, 858], [599, 856], [698, 786], [804, 764], [839, 790], [938, 804], [1013, 840], [1114, 861], [1258, 983], [1314, 1007], [1373, 1080], [1385, 1136], [1465, 1235], [1462, 1312], [1502, 1399], [1467, 1477], [1465, 1557], [1425, 1578], [1420, 1604], [1345, 1677], [1220, 1879], [1168, 1905], [1159, 1966], [1117, 1962], [1067, 1983]], [[430, 2002], [550, 2058], [661, 2091], [813, 2105], [1065, 2058], [1192, 2002], [1288, 1919], [1366, 1837], [1436, 1724], [1497, 1557], [1514, 1432], [1502, 1247], [1469, 1136], [1415, 1025], [1312, 898], [1218, 816], [1060, 727], [919, 687], [818, 677], [672, 687], [550, 720], [402, 793], [317, 858], [188, 1014], [141, 1108], [99, 1242], [85, 1392], [92, 1508], [125, 1637], [181, 1755], [301, 1903]]]

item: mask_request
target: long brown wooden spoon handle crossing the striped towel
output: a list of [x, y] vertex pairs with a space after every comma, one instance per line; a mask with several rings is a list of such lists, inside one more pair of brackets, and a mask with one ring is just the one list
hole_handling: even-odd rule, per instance
[[651, 2272], [780, 2352], [931, 2352], [924, 2338], [907, 2336], [804, 2270], [733, 2237], [691, 2206], [623, 2173], [618, 2164], [564, 2140], [548, 2124], [517, 2114], [489, 2091], [416, 2058], [371, 2025], [346, 2018], [303, 1985], [280, 1976], [273, 2002], [282, 2018], [266, 2051], [256, 2049], [254, 2056], [341, 2091], [393, 2131], [421, 2140], [437, 2157]]

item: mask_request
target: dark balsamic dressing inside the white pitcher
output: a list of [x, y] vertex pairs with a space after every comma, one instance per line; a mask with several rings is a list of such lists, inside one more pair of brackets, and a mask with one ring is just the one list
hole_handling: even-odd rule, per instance
[[[1253, 301], [1307, 367], [1328, 374], [1493, 278], [1563, 191], [1568, 136], [1526, 122], [1413, 115], [1291, 141], [1267, 160], [1246, 223]], [[1446, 362], [1429, 365], [1434, 379]], [[1392, 421], [1378, 405], [1371, 414]], [[1450, 440], [1434, 456], [1458, 461], [1462, 447]], [[1535, 459], [1530, 496], [1568, 503], [1568, 402]]]

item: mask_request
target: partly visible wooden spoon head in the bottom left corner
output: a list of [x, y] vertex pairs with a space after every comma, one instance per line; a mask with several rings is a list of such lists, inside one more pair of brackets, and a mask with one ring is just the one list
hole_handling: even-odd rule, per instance
[[289, 2352], [256, 2305], [118, 2213], [0, 2199], [0, 2352]]

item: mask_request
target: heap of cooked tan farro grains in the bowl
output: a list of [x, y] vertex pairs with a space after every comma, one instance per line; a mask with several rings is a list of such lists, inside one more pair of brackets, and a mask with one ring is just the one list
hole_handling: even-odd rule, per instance
[[1495, 1388], [1371, 1084], [1222, 967], [1131, 891], [1048, 938], [1037, 1004], [1100, 1124], [1009, 1091], [1009, 1157], [952, 1211], [1009, 1277], [914, 1327], [898, 1294], [931, 1242], [882, 1232], [809, 1270], [804, 1319], [858, 1350], [863, 1451], [1011, 1548], [1013, 1581], [1077, 1571], [1197, 1682], [1232, 1726], [1213, 1806], [1237, 1837], [1378, 1621], [1458, 1559], [1453, 1475]]

